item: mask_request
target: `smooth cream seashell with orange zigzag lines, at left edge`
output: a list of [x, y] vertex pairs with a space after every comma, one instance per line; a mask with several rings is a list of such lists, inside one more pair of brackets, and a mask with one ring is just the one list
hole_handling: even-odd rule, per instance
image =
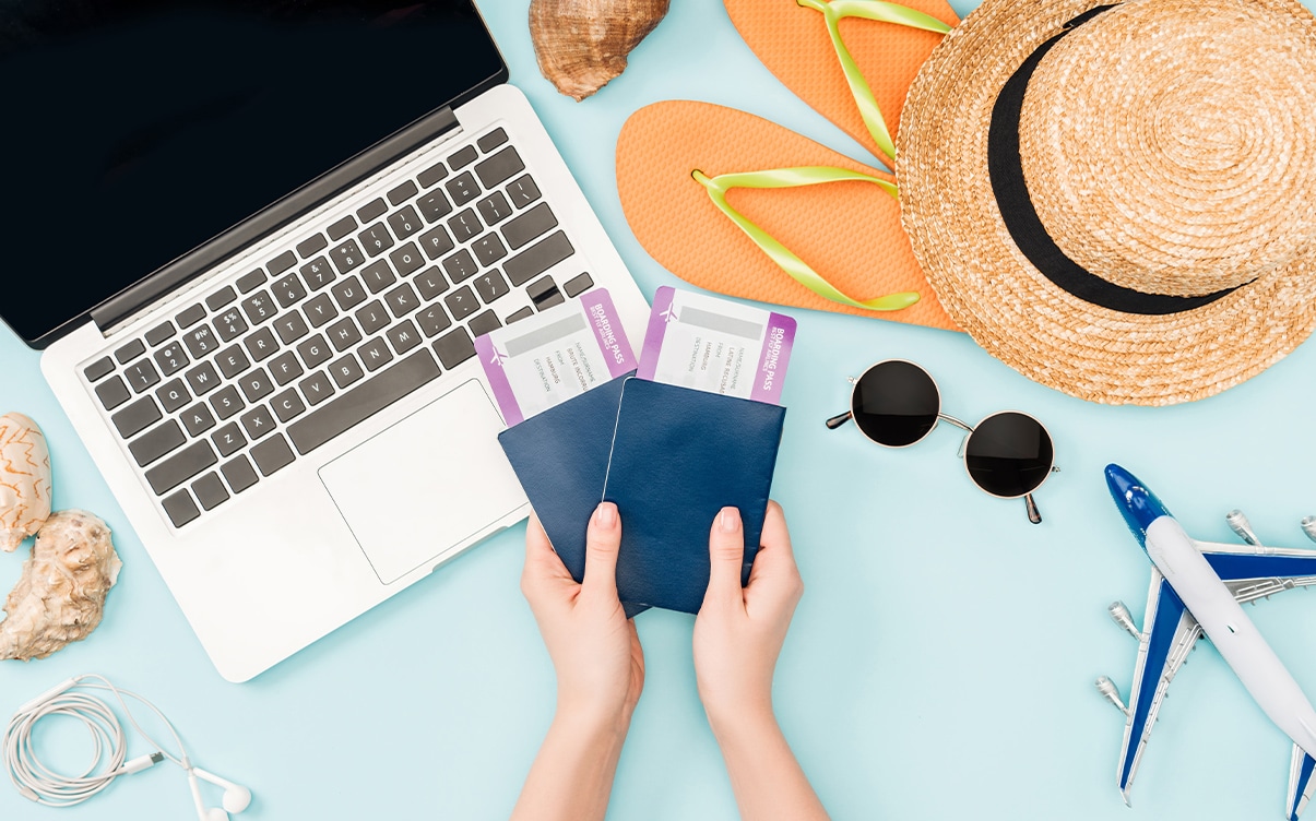
[[46, 437], [21, 413], [0, 416], [0, 550], [13, 553], [50, 516]]

